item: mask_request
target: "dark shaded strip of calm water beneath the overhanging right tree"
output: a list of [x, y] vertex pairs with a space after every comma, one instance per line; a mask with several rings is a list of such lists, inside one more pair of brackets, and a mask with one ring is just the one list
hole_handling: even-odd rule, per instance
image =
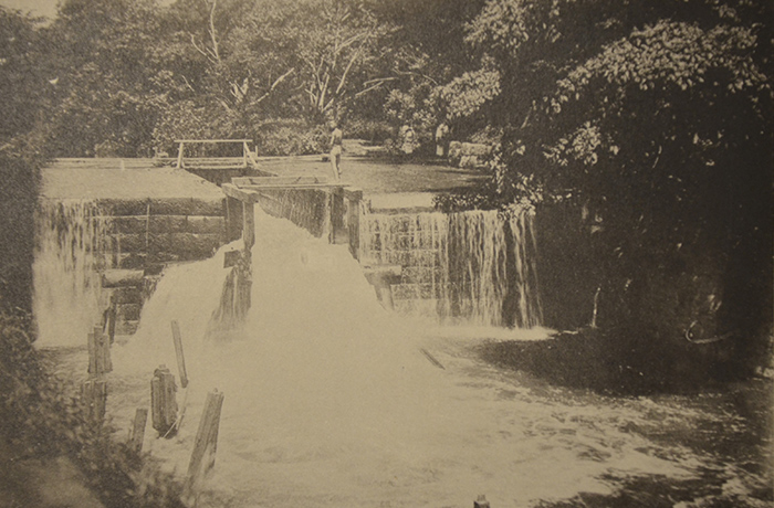
[[734, 380], [734, 342], [680, 343], [624, 329], [580, 329], [536, 342], [488, 342], [481, 358], [552, 384], [614, 395], [690, 393]]

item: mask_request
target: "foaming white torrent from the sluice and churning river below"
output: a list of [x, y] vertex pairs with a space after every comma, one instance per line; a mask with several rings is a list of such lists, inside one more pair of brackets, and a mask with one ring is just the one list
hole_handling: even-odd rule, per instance
[[[609, 398], [498, 370], [477, 345], [545, 332], [397, 317], [346, 246], [260, 211], [257, 239], [242, 327], [211, 320], [234, 244], [170, 267], [137, 334], [113, 348], [108, 416], [124, 438], [153, 370], [176, 370], [180, 324], [185, 419], [176, 436], [148, 425], [145, 440], [180, 477], [207, 393], [224, 393], [198, 506], [469, 507], [480, 494], [493, 507], [771, 506], [771, 427], [742, 395]], [[760, 399], [768, 384], [745, 390]]]

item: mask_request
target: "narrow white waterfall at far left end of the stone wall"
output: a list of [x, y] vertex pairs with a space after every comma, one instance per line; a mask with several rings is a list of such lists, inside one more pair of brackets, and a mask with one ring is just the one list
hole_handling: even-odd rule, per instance
[[105, 219], [90, 200], [43, 200], [35, 224], [36, 345], [84, 345], [86, 334], [102, 319], [96, 271], [112, 264]]

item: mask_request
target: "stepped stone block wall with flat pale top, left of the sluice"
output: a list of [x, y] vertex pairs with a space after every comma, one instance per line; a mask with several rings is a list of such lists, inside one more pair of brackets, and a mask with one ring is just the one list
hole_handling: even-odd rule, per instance
[[113, 308], [118, 334], [134, 332], [165, 264], [209, 257], [226, 241], [218, 186], [150, 159], [59, 159], [42, 171], [40, 213], [60, 244], [42, 248], [79, 246], [70, 263], [98, 276], [97, 306]]

